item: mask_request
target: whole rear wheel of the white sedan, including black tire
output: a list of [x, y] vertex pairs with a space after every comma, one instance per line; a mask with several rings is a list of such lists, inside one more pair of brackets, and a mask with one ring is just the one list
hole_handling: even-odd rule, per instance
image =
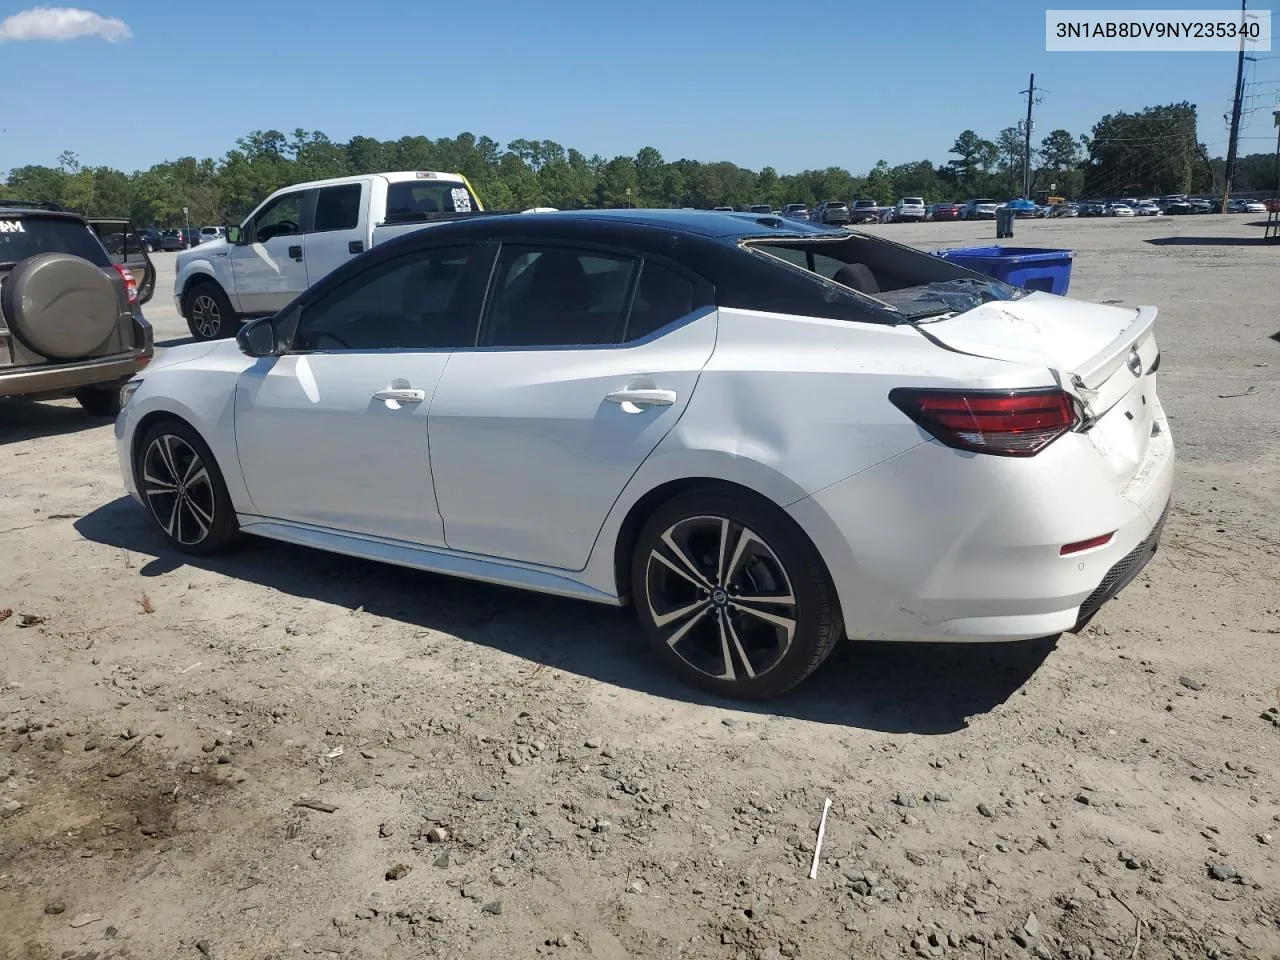
[[781, 509], [735, 492], [690, 490], [654, 511], [636, 538], [631, 596], [658, 658], [731, 699], [786, 692], [844, 636], [818, 550]]

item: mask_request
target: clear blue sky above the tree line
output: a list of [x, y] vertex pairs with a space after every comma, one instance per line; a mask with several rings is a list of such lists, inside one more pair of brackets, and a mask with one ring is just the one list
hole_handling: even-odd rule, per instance
[[[1235, 82], [1231, 52], [1046, 52], [1046, 5], [1027, 0], [40, 1], [132, 36], [0, 44], [0, 172], [63, 150], [125, 170], [220, 157], [248, 131], [303, 127], [861, 173], [945, 161], [964, 128], [993, 138], [1025, 111], [1032, 72], [1037, 136], [1188, 100], [1220, 156]], [[0, 0], [0, 20], [32, 5]], [[1215, 5], [1230, 6], [1160, 4]], [[1275, 147], [1280, 56], [1258, 56], [1245, 154]]]

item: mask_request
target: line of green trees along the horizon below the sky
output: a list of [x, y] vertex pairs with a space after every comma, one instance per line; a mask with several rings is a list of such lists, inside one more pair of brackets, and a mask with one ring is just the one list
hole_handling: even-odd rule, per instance
[[[950, 154], [941, 164], [891, 166], [881, 160], [864, 174], [841, 166], [780, 174], [772, 166], [750, 170], [730, 161], [667, 161], [652, 146], [635, 156], [605, 159], [549, 140], [503, 146], [471, 133], [338, 142], [319, 131], [255, 131], [220, 159], [188, 156], [134, 173], [84, 164], [68, 151], [52, 166], [10, 170], [0, 197], [56, 202], [90, 216], [128, 216], [140, 227], [172, 227], [184, 221], [183, 207], [192, 224], [238, 223], [280, 187], [380, 170], [462, 173], [485, 206], [499, 210], [741, 209], [854, 198], [892, 204], [902, 196], [937, 202], [1007, 200], [1021, 192], [1027, 138], [1018, 127], [1000, 131], [995, 140], [966, 129]], [[1244, 157], [1240, 169], [1253, 170], [1251, 160]], [[1029, 168], [1033, 191], [1082, 198], [1208, 191], [1215, 182], [1213, 163], [1196, 138], [1196, 108], [1185, 102], [1107, 114], [1079, 137], [1050, 131], [1033, 145]], [[1239, 177], [1236, 186], [1249, 188]]]

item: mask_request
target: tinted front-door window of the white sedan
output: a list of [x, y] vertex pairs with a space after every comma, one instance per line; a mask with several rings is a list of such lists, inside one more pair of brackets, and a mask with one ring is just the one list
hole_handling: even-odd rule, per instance
[[471, 255], [471, 247], [417, 251], [357, 274], [303, 310], [294, 352], [472, 346]]

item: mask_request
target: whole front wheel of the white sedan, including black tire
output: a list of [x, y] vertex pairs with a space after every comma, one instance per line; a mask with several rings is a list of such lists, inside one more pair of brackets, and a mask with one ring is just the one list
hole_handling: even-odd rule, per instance
[[239, 534], [218, 461], [180, 420], [161, 420], [142, 435], [133, 481], [160, 532], [183, 553], [220, 553]]

